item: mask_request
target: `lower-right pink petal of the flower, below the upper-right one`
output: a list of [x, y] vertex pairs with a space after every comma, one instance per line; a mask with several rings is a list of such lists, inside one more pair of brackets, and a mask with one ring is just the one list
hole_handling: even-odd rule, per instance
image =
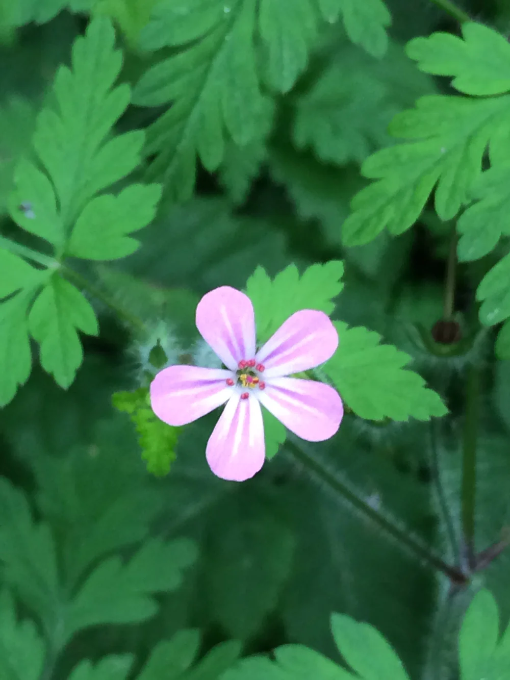
[[333, 437], [343, 416], [336, 390], [315, 380], [271, 379], [258, 398], [286, 428], [307, 441]]

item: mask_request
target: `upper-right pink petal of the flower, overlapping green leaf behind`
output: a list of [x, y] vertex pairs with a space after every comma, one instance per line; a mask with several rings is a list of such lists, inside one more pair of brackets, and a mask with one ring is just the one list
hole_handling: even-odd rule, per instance
[[327, 314], [302, 309], [292, 314], [256, 355], [264, 379], [313, 369], [338, 347], [338, 333]]

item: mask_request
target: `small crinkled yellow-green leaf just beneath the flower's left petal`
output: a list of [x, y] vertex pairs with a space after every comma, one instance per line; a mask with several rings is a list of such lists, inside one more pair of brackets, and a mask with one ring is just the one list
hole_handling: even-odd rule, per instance
[[147, 388], [116, 392], [113, 403], [118, 411], [129, 413], [135, 424], [141, 457], [146, 460], [148, 471], [156, 477], [167, 475], [177, 457], [175, 449], [180, 428], [167, 425], [154, 414]]

